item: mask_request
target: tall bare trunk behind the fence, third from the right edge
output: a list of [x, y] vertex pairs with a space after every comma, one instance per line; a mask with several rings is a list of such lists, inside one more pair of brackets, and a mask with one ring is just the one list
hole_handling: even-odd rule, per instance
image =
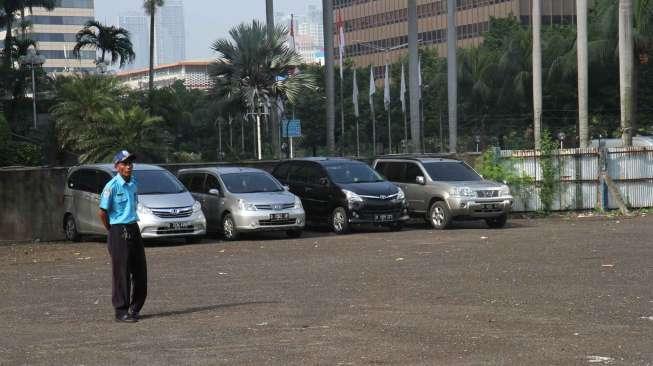
[[542, 139], [542, 3], [533, 0], [533, 130], [535, 149]]

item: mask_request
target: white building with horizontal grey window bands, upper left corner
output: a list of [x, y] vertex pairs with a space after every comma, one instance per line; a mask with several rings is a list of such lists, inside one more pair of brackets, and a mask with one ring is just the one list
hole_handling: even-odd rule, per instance
[[[25, 20], [31, 23], [25, 36], [37, 41], [39, 53], [46, 57], [43, 69], [46, 72], [66, 70], [95, 70], [95, 51], [82, 50], [80, 58], [73, 57], [75, 34], [84, 23], [94, 19], [93, 0], [57, 0], [56, 8], [48, 11], [34, 7], [25, 9]], [[16, 24], [16, 23], [15, 23]], [[22, 36], [22, 30], [14, 29], [15, 37]], [[0, 32], [0, 39], [5, 32]]]

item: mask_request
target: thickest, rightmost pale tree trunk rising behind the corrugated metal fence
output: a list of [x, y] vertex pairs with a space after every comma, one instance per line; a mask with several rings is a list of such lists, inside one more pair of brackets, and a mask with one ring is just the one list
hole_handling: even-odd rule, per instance
[[633, 144], [633, 64], [633, 2], [619, 0], [619, 94], [624, 146]]

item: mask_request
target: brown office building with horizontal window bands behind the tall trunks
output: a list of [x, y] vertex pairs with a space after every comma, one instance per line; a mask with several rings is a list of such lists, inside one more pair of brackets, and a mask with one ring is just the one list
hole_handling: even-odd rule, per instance
[[[408, 9], [405, 0], [333, 0], [334, 22], [344, 20], [345, 55], [357, 66], [381, 66], [408, 52]], [[542, 0], [542, 25], [575, 22], [575, 0]], [[458, 47], [482, 42], [490, 18], [517, 17], [530, 22], [529, 0], [456, 0]], [[447, 0], [417, 0], [420, 46], [446, 56]], [[335, 55], [338, 27], [334, 26]], [[337, 56], [336, 56], [337, 57]], [[377, 73], [382, 72], [379, 68]], [[379, 76], [379, 75], [377, 75]]]

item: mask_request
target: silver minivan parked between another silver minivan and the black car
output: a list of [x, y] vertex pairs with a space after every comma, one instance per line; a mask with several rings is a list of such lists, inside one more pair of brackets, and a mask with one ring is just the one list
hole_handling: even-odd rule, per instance
[[182, 169], [177, 176], [202, 203], [210, 233], [221, 232], [226, 240], [253, 231], [301, 236], [305, 225], [301, 200], [263, 170], [193, 168]]

